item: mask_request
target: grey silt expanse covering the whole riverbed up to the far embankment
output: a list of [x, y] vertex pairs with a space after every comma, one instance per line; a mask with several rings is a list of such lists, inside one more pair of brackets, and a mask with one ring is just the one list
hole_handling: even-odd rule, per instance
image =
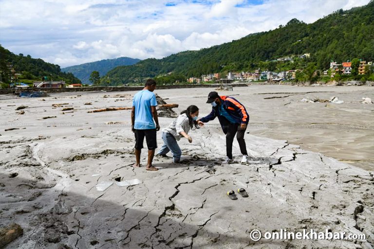
[[[176, 112], [195, 104], [203, 116], [210, 110], [205, 104], [210, 90], [156, 89], [156, 93], [168, 98], [168, 104], [179, 104]], [[309, 91], [313, 93], [303, 93]], [[155, 159], [158, 172], [145, 171], [146, 150], [143, 167], [131, 167], [130, 110], [87, 113], [129, 107], [131, 96], [122, 95], [133, 93], [52, 94], [45, 101], [0, 96], [1, 226], [17, 223], [24, 230], [9, 248], [357, 249], [374, 245], [374, 178], [373, 171], [366, 170], [373, 169], [373, 128], [342, 126], [373, 127], [374, 105], [359, 103], [361, 97], [374, 99], [372, 88], [250, 86], [220, 92], [248, 107], [249, 163], [221, 164], [224, 135], [214, 121], [191, 131], [192, 143], [180, 142], [184, 163]], [[103, 98], [104, 94], [110, 97]], [[281, 98], [265, 99], [274, 96]], [[300, 102], [305, 96], [337, 96], [345, 103]], [[84, 105], [87, 102], [92, 105]], [[62, 103], [68, 105], [52, 107]], [[22, 115], [15, 110], [21, 105], [28, 106]], [[62, 114], [64, 107], [74, 110]], [[160, 118], [164, 126], [170, 121]], [[8, 128], [19, 129], [4, 131]], [[240, 160], [235, 141], [234, 157]], [[141, 184], [113, 184], [104, 192], [94, 187], [103, 181], [114, 183], [118, 177], [137, 178]], [[250, 197], [233, 201], [225, 195], [237, 188], [245, 188]], [[254, 242], [249, 238], [254, 229], [263, 233], [330, 229], [365, 234], [366, 239]]]

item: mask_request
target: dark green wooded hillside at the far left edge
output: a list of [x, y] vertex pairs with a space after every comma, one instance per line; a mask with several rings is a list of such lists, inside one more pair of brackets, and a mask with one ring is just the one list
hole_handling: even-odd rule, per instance
[[1, 80], [4, 83], [10, 83], [9, 65], [12, 65], [16, 73], [21, 73], [19, 82], [27, 82], [33, 80], [42, 80], [47, 77], [48, 80], [63, 80], [68, 84], [80, 83], [72, 73], [61, 72], [60, 66], [47, 63], [42, 59], [34, 59], [30, 55], [16, 55], [9, 50], [0, 46], [0, 73]]

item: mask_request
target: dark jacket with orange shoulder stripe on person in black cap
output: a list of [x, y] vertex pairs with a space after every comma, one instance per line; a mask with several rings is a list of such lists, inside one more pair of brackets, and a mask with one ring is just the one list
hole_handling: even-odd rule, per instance
[[[248, 124], [248, 112], [238, 100], [229, 96], [221, 96], [221, 102], [227, 113], [230, 114], [238, 124]], [[226, 134], [229, 122], [224, 116], [220, 115], [219, 106], [212, 107], [212, 111], [206, 117], [201, 118], [200, 121], [206, 123], [214, 120], [216, 117], [218, 117], [221, 127], [224, 130], [224, 134]]]

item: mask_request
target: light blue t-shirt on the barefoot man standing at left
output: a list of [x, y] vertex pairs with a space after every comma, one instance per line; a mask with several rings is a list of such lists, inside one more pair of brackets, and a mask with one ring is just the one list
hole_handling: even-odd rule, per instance
[[153, 116], [150, 107], [157, 106], [156, 95], [149, 90], [141, 90], [132, 99], [132, 106], [135, 107], [134, 129], [146, 130], [155, 129]]

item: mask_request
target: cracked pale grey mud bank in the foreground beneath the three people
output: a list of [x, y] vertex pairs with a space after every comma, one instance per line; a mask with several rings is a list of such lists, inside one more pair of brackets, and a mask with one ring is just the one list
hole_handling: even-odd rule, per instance
[[[104, 105], [94, 99], [81, 102]], [[78, 110], [74, 115], [71, 122], [89, 124], [79, 131], [28, 127], [0, 137], [1, 225], [17, 223], [24, 230], [9, 248], [366, 249], [374, 245], [372, 171], [284, 140], [250, 134], [245, 135], [252, 156], [248, 164], [222, 165], [222, 131], [206, 127], [191, 131], [192, 143], [180, 141], [183, 163], [172, 164], [168, 154], [169, 158], [154, 159], [159, 171], [148, 172], [145, 150], [142, 167], [131, 167], [130, 128], [93, 125], [127, 121], [130, 112], [87, 116], [86, 110]], [[170, 119], [160, 122], [167, 125]], [[157, 139], [160, 147], [159, 134]], [[233, 152], [240, 160], [236, 141]], [[96, 191], [98, 182], [115, 182], [118, 177], [141, 183]], [[246, 189], [249, 197], [233, 201], [226, 196], [238, 188]], [[253, 229], [304, 228], [365, 234], [367, 239], [254, 242], [249, 238]]]

